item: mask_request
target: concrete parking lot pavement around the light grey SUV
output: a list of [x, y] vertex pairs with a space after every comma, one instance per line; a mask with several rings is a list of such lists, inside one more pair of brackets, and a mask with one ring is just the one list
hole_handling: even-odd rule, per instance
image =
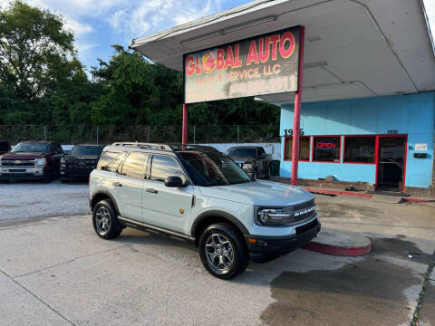
[[100, 239], [87, 184], [0, 194], [1, 325], [409, 325], [414, 312], [435, 324], [434, 206], [318, 196], [324, 228], [369, 236], [371, 254], [299, 249], [226, 282], [179, 240], [130, 228]]

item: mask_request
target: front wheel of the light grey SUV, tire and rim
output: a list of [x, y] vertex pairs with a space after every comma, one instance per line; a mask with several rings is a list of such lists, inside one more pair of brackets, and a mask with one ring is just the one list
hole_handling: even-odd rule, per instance
[[209, 225], [200, 235], [198, 245], [202, 264], [213, 276], [230, 280], [247, 269], [247, 245], [232, 225]]

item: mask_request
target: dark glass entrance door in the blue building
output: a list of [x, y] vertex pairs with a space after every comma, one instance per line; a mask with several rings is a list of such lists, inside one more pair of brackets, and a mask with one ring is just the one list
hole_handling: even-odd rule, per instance
[[377, 188], [404, 191], [406, 136], [379, 137]]

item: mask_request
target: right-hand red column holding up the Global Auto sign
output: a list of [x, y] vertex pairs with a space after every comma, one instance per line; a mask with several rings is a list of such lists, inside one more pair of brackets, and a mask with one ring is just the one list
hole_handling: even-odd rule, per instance
[[304, 26], [301, 26], [301, 34], [299, 36], [297, 91], [295, 93], [295, 114], [293, 117], [292, 185], [294, 186], [297, 186], [297, 165], [299, 163], [299, 125], [301, 122], [302, 80], [304, 72], [304, 36], [305, 29]]

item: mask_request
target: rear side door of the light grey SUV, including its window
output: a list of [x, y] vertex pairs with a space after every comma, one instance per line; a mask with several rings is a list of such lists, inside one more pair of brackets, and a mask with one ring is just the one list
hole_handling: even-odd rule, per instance
[[122, 217], [142, 221], [142, 188], [149, 154], [131, 152], [113, 180]]

